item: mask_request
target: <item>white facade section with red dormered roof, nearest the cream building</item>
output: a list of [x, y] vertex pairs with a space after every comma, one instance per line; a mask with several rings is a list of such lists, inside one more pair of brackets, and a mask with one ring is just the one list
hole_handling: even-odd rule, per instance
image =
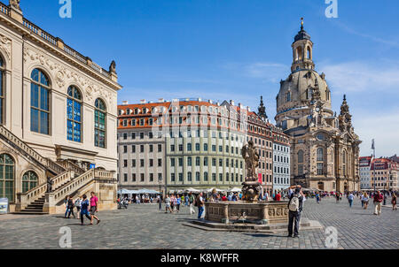
[[[170, 103], [127, 104], [119, 106], [118, 179], [120, 187], [165, 187], [165, 138], [153, 132], [153, 112], [168, 111]], [[158, 114], [158, 113], [157, 113]]]

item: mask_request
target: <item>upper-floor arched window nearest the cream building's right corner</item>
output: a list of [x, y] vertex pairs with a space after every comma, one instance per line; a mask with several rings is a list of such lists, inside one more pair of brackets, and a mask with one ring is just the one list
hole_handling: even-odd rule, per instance
[[94, 111], [94, 145], [106, 148], [106, 104], [101, 99], [96, 99]]

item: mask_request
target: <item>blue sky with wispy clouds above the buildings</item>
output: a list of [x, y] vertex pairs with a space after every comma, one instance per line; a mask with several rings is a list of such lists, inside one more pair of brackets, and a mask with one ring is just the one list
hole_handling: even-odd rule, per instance
[[254, 109], [263, 95], [270, 118], [304, 17], [333, 110], [347, 95], [361, 154], [372, 138], [377, 156], [399, 154], [397, 0], [338, 0], [337, 19], [325, 0], [72, 0], [72, 19], [60, 6], [21, 1], [27, 19], [98, 65], [116, 61], [118, 103], [202, 97]]

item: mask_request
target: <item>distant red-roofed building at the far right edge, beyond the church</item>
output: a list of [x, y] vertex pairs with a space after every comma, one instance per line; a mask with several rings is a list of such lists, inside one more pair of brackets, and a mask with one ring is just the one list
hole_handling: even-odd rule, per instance
[[376, 158], [372, 161], [371, 186], [377, 190], [398, 189], [399, 163], [387, 157]]

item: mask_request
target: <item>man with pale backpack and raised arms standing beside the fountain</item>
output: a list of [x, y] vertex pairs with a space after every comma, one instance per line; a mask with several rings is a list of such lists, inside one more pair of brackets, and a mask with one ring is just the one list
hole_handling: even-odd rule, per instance
[[[288, 202], [288, 237], [299, 237], [299, 225], [301, 221], [301, 212], [303, 208], [304, 195], [301, 186], [293, 186], [295, 191], [289, 195]], [[293, 188], [290, 187], [290, 188]], [[295, 225], [293, 227], [293, 221]]]

